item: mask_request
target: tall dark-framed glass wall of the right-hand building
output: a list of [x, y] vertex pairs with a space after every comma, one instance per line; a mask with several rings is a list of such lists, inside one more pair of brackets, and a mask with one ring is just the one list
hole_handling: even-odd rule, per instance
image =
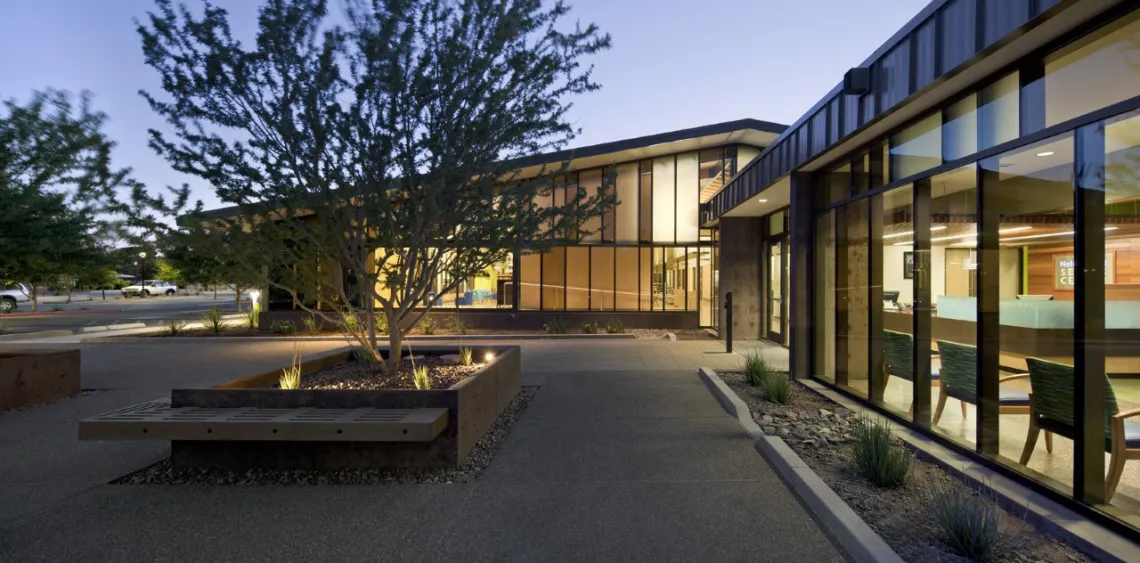
[[1138, 55], [1140, 11], [816, 174], [812, 358], [1140, 527]]

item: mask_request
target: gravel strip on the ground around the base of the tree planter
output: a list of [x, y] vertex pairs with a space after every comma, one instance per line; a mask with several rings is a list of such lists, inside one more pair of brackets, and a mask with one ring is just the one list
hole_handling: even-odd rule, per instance
[[184, 470], [177, 471], [164, 459], [149, 467], [121, 476], [111, 484], [236, 484], [236, 486], [309, 486], [309, 484], [388, 484], [388, 483], [471, 483], [495, 459], [495, 454], [511, 435], [511, 429], [527, 409], [536, 386], [522, 387], [490, 431], [483, 435], [457, 468], [447, 470]]

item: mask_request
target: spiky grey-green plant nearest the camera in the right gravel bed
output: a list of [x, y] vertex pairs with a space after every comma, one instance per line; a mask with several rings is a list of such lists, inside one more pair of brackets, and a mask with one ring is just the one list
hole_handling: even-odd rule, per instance
[[954, 553], [971, 561], [990, 561], [997, 554], [997, 498], [991, 489], [975, 490], [945, 476], [933, 476], [925, 505], [942, 528], [943, 541]]

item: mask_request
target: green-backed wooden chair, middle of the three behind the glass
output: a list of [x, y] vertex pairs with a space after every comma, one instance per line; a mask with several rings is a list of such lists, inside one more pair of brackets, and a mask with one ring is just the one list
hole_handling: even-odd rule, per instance
[[[978, 349], [969, 344], [938, 341], [938, 354], [942, 357], [942, 377], [938, 380], [938, 406], [934, 410], [934, 424], [938, 424], [942, 411], [946, 408], [946, 399], [958, 399], [962, 405], [962, 417], [966, 417], [966, 405], [974, 405], [977, 392]], [[1024, 380], [1028, 374], [1007, 375], [1000, 383]], [[997, 413], [1002, 415], [1029, 414], [1029, 393], [1012, 387], [997, 387]], [[1053, 450], [1052, 435], [1045, 435], [1049, 451]]]

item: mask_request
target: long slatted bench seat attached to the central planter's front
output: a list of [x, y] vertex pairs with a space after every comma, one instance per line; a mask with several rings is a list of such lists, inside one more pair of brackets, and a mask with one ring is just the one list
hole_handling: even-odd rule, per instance
[[155, 400], [80, 422], [80, 440], [427, 442], [446, 408], [170, 408]]

